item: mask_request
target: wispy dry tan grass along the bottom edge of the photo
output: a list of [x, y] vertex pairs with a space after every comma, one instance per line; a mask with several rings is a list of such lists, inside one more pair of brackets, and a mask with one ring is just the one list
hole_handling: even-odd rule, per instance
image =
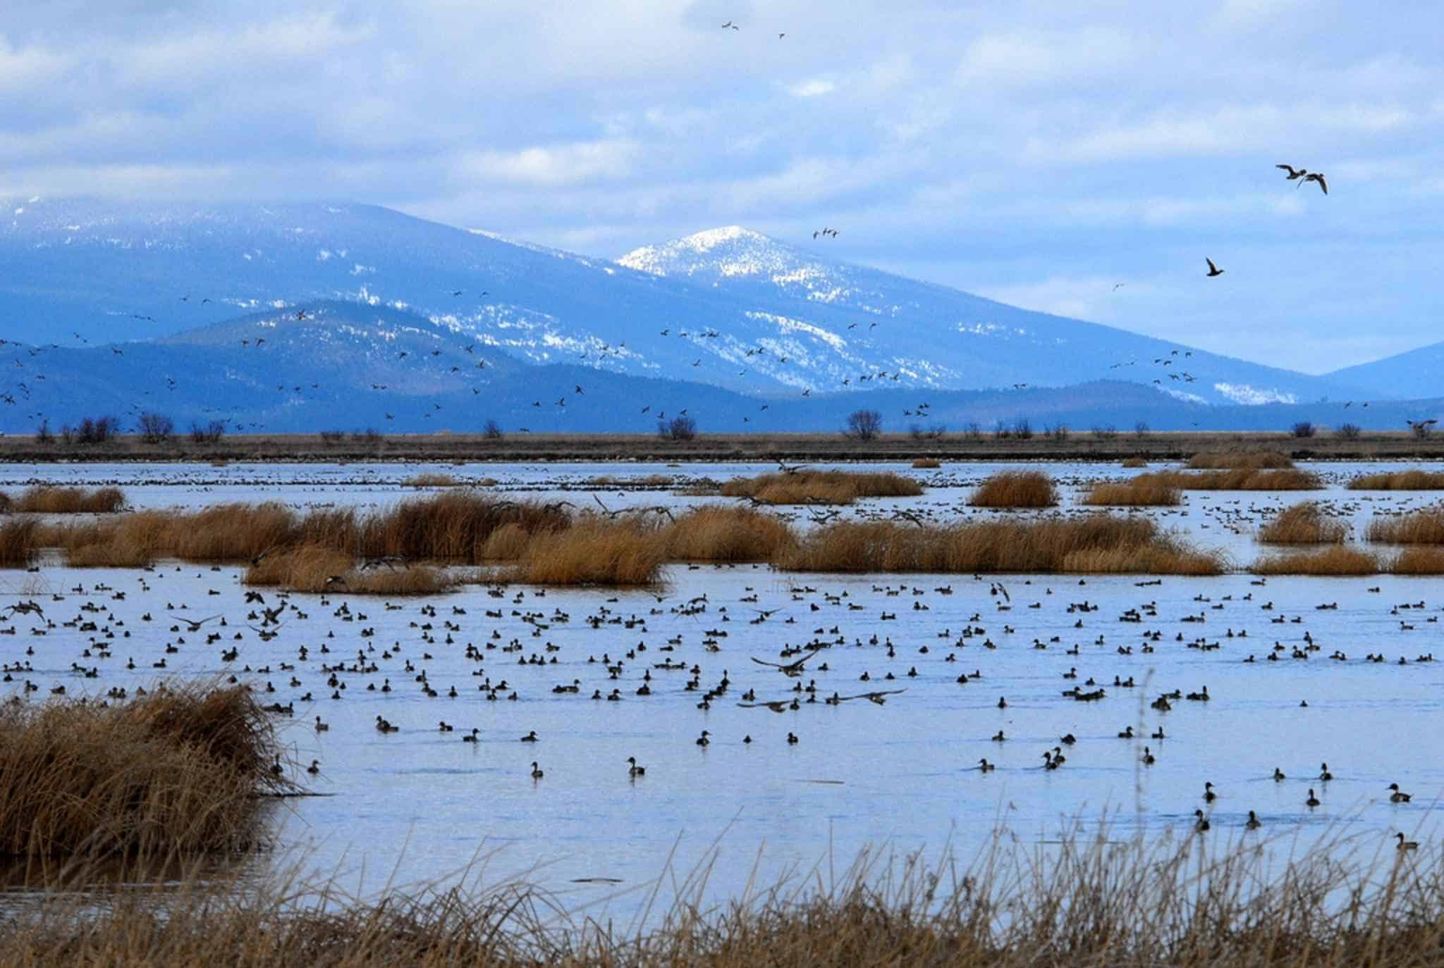
[[[566, 912], [524, 881], [390, 892], [334, 884], [127, 890], [105, 903], [32, 902], [0, 922], [9, 964], [559, 965], [563, 968], [1424, 968], [1444, 961], [1444, 870], [1428, 847], [1362, 838], [1315, 847], [1248, 835], [1108, 842], [1048, 851], [995, 845], [972, 863], [864, 853], [833, 877], [706, 900], [708, 874], [670, 877], [674, 900], [632, 929]], [[643, 894], [661, 893], [663, 880]], [[650, 905], [648, 905], [650, 906]]]

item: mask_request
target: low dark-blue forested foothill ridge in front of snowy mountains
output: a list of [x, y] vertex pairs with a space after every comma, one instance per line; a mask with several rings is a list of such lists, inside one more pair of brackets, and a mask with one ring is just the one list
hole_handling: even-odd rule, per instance
[[1311, 420], [1399, 428], [1432, 417], [1441, 401], [1206, 405], [1126, 381], [1070, 387], [747, 397], [702, 382], [634, 377], [576, 364], [529, 364], [451, 323], [349, 300], [313, 300], [247, 313], [153, 340], [105, 346], [0, 346], [9, 388], [0, 431], [52, 431], [84, 417], [114, 415], [134, 428], [142, 413], [170, 417], [180, 433], [221, 421], [228, 433], [475, 433], [488, 420], [505, 431], [650, 433], [686, 414], [702, 433], [839, 430], [859, 407], [884, 428], [905, 431], [1030, 423], [1129, 431], [1284, 430]]

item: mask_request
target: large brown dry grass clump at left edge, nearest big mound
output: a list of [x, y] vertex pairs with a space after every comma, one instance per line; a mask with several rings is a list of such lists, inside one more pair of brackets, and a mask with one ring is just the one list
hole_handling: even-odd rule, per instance
[[287, 789], [243, 688], [160, 688], [121, 705], [0, 707], [0, 855], [173, 855], [257, 844], [256, 795]]

